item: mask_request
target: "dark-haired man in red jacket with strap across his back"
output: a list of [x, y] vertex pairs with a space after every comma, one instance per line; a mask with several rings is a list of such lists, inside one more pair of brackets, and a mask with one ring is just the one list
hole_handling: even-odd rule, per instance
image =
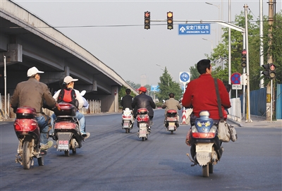
[[[182, 105], [188, 108], [193, 108], [190, 115], [191, 125], [195, 122], [195, 118], [200, 117], [199, 113], [202, 110], [209, 111], [209, 118], [214, 119], [215, 123], [219, 122], [219, 107], [216, 99], [216, 89], [214, 78], [212, 78], [211, 61], [203, 59], [197, 63], [197, 70], [200, 77], [188, 83], [186, 91], [183, 94]], [[221, 110], [231, 107], [229, 94], [223, 82], [217, 79], [219, 86], [219, 95], [221, 98]]]

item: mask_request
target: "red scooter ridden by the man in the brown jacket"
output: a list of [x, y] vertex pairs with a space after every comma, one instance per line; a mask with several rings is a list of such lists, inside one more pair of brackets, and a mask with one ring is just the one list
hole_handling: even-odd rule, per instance
[[30, 166], [33, 166], [33, 158], [37, 158], [38, 165], [43, 166], [44, 155], [47, 154], [47, 150], [40, 151], [40, 131], [35, 117], [34, 108], [20, 107], [16, 110], [16, 120], [13, 123], [19, 140], [16, 163], [20, 163], [25, 169], [30, 169]]

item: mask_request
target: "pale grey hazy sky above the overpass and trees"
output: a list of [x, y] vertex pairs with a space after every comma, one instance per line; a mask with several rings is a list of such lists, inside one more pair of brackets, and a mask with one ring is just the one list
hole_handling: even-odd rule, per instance
[[[231, 22], [235, 15], [248, 12], [259, 19], [259, 0], [230, 0]], [[14, 0], [30, 13], [44, 20], [109, 66], [123, 80], [157, 85], [166, 67], [174, 81], [189, 72], [191, 66], [211, 54], [220, 41], [221, 28], [211, 23], [210, 35], [178, 35], [178, 24], [167, 30], [166, 22], [151, 21], [144, 29], [144, 13], [151, 20], [223, 20], [228, 22], [228, 0], [187, 1], [93, 1], [93, 0]], [[206, 4], [209, 3], [209, 4]], [[268, 13], [268, 0], [263, 0], [263, 15]], [[210, 5], [212, 4], [212, 5]], [[281, 11], [277, 0], [276, 12]], [[199, 22], [200, 23], [200, 22]], [[203, 39], [204, 38], [204, 39]]]

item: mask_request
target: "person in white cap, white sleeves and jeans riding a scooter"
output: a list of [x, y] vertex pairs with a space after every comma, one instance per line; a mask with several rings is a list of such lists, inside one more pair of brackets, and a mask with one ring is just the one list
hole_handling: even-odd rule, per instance
[[[63, 88], [62, 88], [62, 90], [64, 88], [66, 88], [66, 89], [73, 89], [76, 81], [78, 81], [78, 79], [73, 79], [69, 75], [66, 76], [66, 78], [63, 79]], [[73, 89], [73, 90], [75, 90], [75, 89]], [[61, 90], [58, 90], [56, 92], [56, 94], [54, 94], [54, 96], [53, 96], [56, 101], [59, 101], [58, 99], [60, 97], [60, 92], [61, 92]], [[76, 96], [76, 99], [78, 100], [78, 109], [81, 109], [83, 104], [84, 104], [84, 100], [83, 100], [83, 98], [80, 95], [80, 92], [78, 90], [75, 90], [75, 96]], [[80, 128], [81, 128], [80, 134], [85, 139], [87, 139], [88, 137], [90, 137], [90, 133], [85, 133], [85, 116], [82, 113], [80, 113], [79, 111], [77, 111], [75, 113], [75, 116], [76, 116], [76, 118], [78, 118], [78, 121], [80, 122]], [[53, 122], [55, 120], [55, 118], [56, 118], [55, 113], [53, 113], [52, 116], [51, 116], [51, 121]]]

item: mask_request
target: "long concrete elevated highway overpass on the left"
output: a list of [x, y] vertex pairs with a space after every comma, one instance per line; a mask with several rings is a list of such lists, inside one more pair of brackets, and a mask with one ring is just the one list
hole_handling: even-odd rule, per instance
[[[120, 75], [83, 47], [73, 42], [12, 1], [0, 4], [0, 93], [13, 94], [18, 82], [27, 80], [27, 70], [44, 71], [41, 82], [52, 94], [61, 89], [66, 75], [78, 78], [75, 89], [86, 90], [85, 98], [101, 100], [101, 111], [118, 111], [118, 90], [124, 85]], [[4, 77], [6, 57], [6, 86]]]

